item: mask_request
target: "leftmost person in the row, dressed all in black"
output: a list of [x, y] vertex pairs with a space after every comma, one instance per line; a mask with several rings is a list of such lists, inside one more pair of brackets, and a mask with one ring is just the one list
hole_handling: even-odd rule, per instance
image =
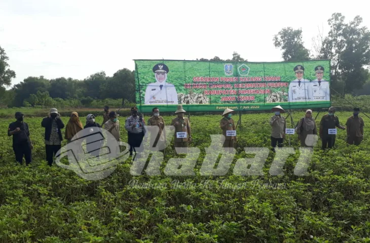
[[29, 139], [28, 124], [23, 121], [23, 116], [19, 111], [15, 113], [17, 120], [9, 125], [8, 136], [13, 135], [13, 150], [16, 161], [22, 165], [24, 155], [28, 166], [32, 161], [31, 149], [33, 145]]

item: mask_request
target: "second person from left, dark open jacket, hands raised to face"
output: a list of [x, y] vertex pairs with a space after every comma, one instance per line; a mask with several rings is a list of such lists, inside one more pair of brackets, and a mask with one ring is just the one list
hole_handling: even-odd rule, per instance
[[62, 147], [63, 140], [61, 129], [64, 128], [64, 124], [60, 119], [58, 110], [55, 108], [50, 109], [49, 116], [43, 118], [41, 126], [45, 128], [46, 160], [49, 166], [52, 166], [54, 156]]

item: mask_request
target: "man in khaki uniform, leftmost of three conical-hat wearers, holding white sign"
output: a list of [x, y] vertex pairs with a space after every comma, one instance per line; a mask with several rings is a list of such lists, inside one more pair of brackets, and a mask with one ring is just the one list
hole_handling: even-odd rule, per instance
[[175, 148], [188, 148], [189, 142], [192, 141], [190, 121], [187, 117], [183, 117], [185, 112], [182, 109], [182, 105], [178, 105], [175, 111], [177, 117], [171, 122], [171, 126], [175, 127]]

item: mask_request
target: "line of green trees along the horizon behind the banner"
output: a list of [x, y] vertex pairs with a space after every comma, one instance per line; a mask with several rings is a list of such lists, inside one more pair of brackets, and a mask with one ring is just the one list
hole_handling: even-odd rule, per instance
[[[284, 61], [312, 59], [331, 60], [331, 87], [342, 95], [370, 95], [370, 31], [362, 26], [362, 18], [356, 16], [348, 23], [340, 13], [328, 19], [329, 31], [313, 37], [311, 50], [304, 46], [301, 29], [282, 28], [273, 37], [273, 44], [281, 49]], [[0, 47], [0, 105], [20, 106], [124, 106], [135, 103], [135, 71], [118, 70], [113, 76], [104, 71], [79, 80], [71, 77], [47, 79], [29, 76], [10, 90], [11, 80], [16, 76], [8, 64], [9, 57]], [[234, 52], [232, 59], [218, 56], [199, 61], [248, 61]]]

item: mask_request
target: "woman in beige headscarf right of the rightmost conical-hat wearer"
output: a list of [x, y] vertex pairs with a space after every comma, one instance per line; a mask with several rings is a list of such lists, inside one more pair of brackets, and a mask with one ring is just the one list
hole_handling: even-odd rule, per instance
[[[314, 136], [317, 135], [315, 119], [312, 117], [312, 110], [306, 110], [306, 115], [302, 117], [298, 123], [295, 132], [298, 134], [298, 139], [301, 140], [302, 147], [312, 147]], [[306, 141], [307, 139], [307, 141]]]

